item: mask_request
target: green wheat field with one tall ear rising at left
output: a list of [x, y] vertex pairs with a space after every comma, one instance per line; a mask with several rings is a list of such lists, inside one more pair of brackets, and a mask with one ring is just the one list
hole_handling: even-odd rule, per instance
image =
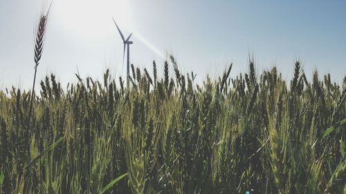
[[0, 88], [0, 193], [346, 193], [346, 77], [250, 60], [199, 84], [170, 56], [129, 88], [107, 70], [34, 90], [46, 16], [33, 89]]

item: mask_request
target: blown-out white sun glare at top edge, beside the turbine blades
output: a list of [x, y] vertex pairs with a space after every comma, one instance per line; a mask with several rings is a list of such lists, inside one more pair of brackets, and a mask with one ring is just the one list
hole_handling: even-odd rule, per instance
[[128, 0], [60, 0], [55, 2], [57, 20], [62, 28], [82, 39], [105, 39], [113, 35], [115, 26], [134, 30], [132, 11]]

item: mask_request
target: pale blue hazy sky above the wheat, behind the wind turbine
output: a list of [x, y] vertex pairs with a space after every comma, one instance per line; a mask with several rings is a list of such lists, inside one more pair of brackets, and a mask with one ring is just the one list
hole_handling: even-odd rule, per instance
[[[30, 88], [33, 82], [34, 28], [43, 0], [0, 1], [0, 90]], [[346, 75], [346, 1], [244, 0], [56, 0], [37, 82], [55, 74], [62, 84], [81, 77], [100, 79], [109, 68], [118, 79], [122, 40], [134, 35], [130, 61], [163, 71], [167, 54], [197, 81], [216, 79], [233, 63], [231, 76], [248, 71], [253, 55], [258, 73], [277, 66], [291, 79], [295, 60], [311, 77], [318, 70], [341, 83]], [[39, 88], [39, 84], [37, 84]]]

